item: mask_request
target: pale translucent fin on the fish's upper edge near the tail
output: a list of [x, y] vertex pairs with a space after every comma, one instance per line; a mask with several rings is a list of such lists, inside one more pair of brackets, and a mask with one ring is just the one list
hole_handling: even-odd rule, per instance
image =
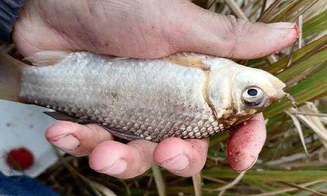
[[24, 58], [23, 61], [29, 61], [35, 66], [50, 66], [61, 62], [70, 53], [72, 52], [46, 50], [46, 51], [36, 52], [35, 54]]

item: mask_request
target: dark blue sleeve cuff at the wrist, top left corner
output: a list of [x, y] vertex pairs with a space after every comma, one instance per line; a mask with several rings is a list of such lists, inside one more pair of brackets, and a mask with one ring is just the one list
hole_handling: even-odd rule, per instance
[[25, 0], [0, 0], [0, 41], [11, 43], [11, 31]]

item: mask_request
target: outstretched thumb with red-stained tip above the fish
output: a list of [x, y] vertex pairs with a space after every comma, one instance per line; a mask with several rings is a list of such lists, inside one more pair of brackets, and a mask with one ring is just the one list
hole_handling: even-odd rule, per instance
[[295, 23], [250, 23], [204, 10], [193, 3], [183, 6], [183, 15], [188, 17], [181, 18], [178, 14], [177, 26], [167, 33], [170, 45], [177, 51], [252, 59], [288, 47], [300, 33]]

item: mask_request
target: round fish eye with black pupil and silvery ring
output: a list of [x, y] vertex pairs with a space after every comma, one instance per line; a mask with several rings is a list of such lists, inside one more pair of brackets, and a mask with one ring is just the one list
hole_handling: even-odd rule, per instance
[[260, 88], [250, 87], [243, 92], [242, 99], [245, 105], [255, 107], [262, 103], [263, 92]]

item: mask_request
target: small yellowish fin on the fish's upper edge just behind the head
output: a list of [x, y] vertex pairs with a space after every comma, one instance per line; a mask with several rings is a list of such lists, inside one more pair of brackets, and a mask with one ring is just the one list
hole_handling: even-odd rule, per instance
[[210, 70], [210, 66], [202, 62], [202, 60], [206, 59], [206, 56], [197, 53], [176, 53], [163, 59], [178, 65], [201, 68], [202, 70]]

